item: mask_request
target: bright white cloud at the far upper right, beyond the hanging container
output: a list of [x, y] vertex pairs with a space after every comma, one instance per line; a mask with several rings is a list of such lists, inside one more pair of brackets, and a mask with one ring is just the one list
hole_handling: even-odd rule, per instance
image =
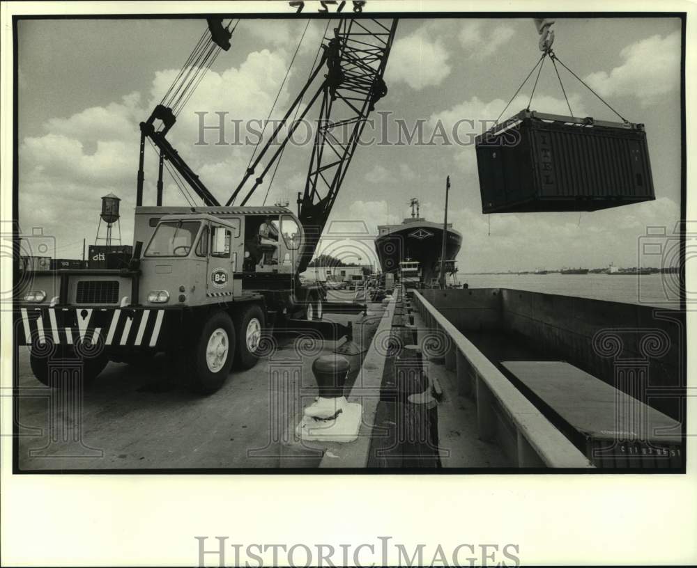
[[661, 102], [680, 86], [680, 32], [651, 36], [620, 52], [622, 65], [597, 71], [585, 81], [603, 97], [631, 96], [643, 107]]

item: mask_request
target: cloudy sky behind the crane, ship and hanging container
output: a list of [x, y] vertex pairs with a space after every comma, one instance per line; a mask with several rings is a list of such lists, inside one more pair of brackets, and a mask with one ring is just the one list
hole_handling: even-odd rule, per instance
[[[243, 20], [233, 47], [222, 52], [169, 134], [218, 200], [227, 200], [243, 175], [250, 148], [196, 145], [197, 112], [230, 120], [263, 120], [279, 93], [307, 20]], [[300, 45], [277, 113], [304, 84], [326, 22], [313, 20]], [[197, 42], [200, 20], [33, 20], [19, 23], [20, 225], [56, 237], [56, 256], [79, 258], [82, 238], [94, 242], [100, 197], [123, 199], [123, 242], [132, 242], [138, 166], [138, 123], [145, 120]], [[388, 95], [378, 103], [388, 133], [395, 120], [423, 125], [432, 145], [358, 148], [331, 221], [378, 223], [408, 215], [421, 200], [422, 215], [442, 221], [445, 176], [452, 180], [450, 219], [463, 236], [463, 272], [562, 266], [636, 265], [637, 239], [647, 226], [680, 216], [680, 21], [661, 18], [559, 19], [555, 51], [576, 74], [628, 120], [645, 123], [656, 200], [613, 210], [569, 214], [482, 214], [475, 152], [451, 144], [459, 120], [492, 120], [505, 107], [539, 51], [533, 21], [521, 19], [402, 19], [388, 61]], [[562, 70], [575, 116], [615, 120], [611, 111]], [[530, 87], [507, 110], [528, 104]], [[546, 63], [531, 109], [567, 114]], [[312, 116], [312, 115], [310, 115]], [[387, 116], [387, 115], [385, 115]], [[466, 123], [459, 139], [477, 134]], [[367, 129], [377, 135], [380, 125]], [[217, 141], [209, 136], [211, 142]], [[146, 204], [154, 204], [156, 157], [146, 149]], [[302, 191], [309, 147], [284, 155], [267, 203]], [[250, 204], [261, 203], [264, 191]], [[165, 203], [185, 205], [167, 180]], [[342, 223], [328, 229], [341, 231]], [[325, 239], [325, 246], [340, 239]], [[369, 240], [369, 239], [368, 239]], [[362, 246], [358, 247], [362, 248]]]

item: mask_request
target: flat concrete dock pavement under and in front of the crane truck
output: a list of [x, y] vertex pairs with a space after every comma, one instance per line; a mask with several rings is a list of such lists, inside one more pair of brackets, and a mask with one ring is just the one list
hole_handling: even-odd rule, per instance
[[[384, 311], [381, 304], [368, 308], [367, 315], [323, 319], [353, 322], [355, 342], [367, 349]], [[29, 349], [21, 347], [18, 466], [22, 471], [278, 468], [287, 426], [316, 396], [312, 361], [341, 343], [275, 335], [254, 368], [233, 368], [224, 386], [208, 396], [163, 377], [164, 355], [148, 368], [109, 363], [79, 400], [40, 384], [29, 368]], [[347, 388], [364, 358], [365, 352], [348, 357]]]

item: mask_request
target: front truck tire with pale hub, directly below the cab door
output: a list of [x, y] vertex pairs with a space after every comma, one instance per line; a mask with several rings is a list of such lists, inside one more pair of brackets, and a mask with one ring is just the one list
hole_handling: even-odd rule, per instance
[[208, 316], [189, 358], [189, 386], [197, 393], [215, 393], [227, 379], [235, 357], [235, 326], [225, 312]]

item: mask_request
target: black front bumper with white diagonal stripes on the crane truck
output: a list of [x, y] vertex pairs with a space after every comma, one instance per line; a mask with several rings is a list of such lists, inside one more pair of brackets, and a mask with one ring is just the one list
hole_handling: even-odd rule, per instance
[[[93, 345], [161, 347], [162, 328], [168, 310], [134, 308], [19, 308], [19, 345], [72, 345], [89, 341]], [[171, 312], [171, 310], [169, 310]]]

